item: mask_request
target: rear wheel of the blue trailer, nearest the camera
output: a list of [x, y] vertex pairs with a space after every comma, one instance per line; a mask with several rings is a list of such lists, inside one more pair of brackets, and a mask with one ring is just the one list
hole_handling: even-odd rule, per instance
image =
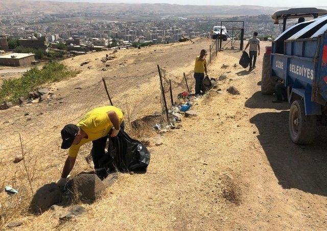
[[315, 139], [317, 118], [305, 113], [303, 100], [296, 99], [291, 106], [289, 115], [289, 132], [296, 144], [311, 144]]

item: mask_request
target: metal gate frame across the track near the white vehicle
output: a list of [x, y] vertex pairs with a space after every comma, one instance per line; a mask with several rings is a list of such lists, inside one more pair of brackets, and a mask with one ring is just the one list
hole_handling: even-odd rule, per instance
[[[241, 38], [240, 38], [240, 41], [239, 41], [239, 44], [240, 44], [240, 48], [238, 48], [239, 50], [243, 50], [243, 39], [244, 39], [244, 21], [221, 21], [220, 22], [220, 35], [222, 34], [222, 25], [223, 25], [223, 22], [242, 22], [242, 28], [238, 28], [238, 27], [232, 27], [232, 28], [226, 28], [226, 31], [228, 30], [231, 30], [232, 34], [231, 34], [231, 37], [227, 35], [228, 38], [230, 38], [230, 40], [224, 44], [224, 46], [222, 46], [222, 36], [220, 36], [219, 38], [219, 49], [223, 49], [224, 47], [227, 46], [228, 43], [231, 44], [231, 47], [230, 48], [224, 48], [225, 50], [235, 50], [233, 46], [233, 44], [235, 44], [236, 41], [238, 40], [235, 40], [235, 38], [237, 38], [238, 35], [241, 35]], [[234, 31], [237, 31], [237, 33], [234, 34]], [[219, 36], [218, 36], [219, 37]], [[234, 41], [233, 41], [234, 40]]]

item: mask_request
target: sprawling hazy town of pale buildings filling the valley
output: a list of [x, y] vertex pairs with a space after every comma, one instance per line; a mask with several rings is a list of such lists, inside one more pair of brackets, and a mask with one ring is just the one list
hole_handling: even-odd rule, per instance
[[[6, 14], [5, 14], [6, 13]], [[68, 50], [86, 52], [101, 50], [117, 45], [129, 46], [132, 43], [169, 43], [180, 38], [193, 39], [196, 37], [210, 37], [214, 25], [220, 21], [244, 21], [245, 38], [251, 37], [253, 30], [258, 31], [260, 37], [274, 37], [279, 28], [274, 25], [269, 15], [238, 16], [217, 18], [204, 17], [161, 17], [156, 19], [137, 21], [104, 21], [90, 20], [80, 23], [74, 18], [81, 16], [72, 14], [41, 14], [33, 20], [28, 16], [17, 16], [15, 12], [3, 12], [0, 18], [0, 49], [7, 50], [4, 38], [19, 39], [19, 45], [24, 47], [42, 48], [64, 43]], [[87, 14], [86, 16], [96, 16]], [[67, 23], [62, 19], [69, 18]], [[227, 28], [242, 27], [242, 23], [225, 23]]]

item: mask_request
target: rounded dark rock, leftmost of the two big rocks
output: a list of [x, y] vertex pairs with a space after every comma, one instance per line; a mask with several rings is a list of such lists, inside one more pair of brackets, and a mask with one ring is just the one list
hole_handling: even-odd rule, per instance
[[35, 192], [29, 211], [33, 214], [41, 214], [54, 204], [59, 203], [61, 198], [62, 193], [56, 183], [46, 184]]

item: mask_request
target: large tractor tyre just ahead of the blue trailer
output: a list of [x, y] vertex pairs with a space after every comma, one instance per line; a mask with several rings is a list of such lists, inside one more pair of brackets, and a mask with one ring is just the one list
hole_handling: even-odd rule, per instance
[[262, 62], [261, 93], [271, 95], [275, 92], [275, 80], [270, 77], [270, 55], [265, 54]]

